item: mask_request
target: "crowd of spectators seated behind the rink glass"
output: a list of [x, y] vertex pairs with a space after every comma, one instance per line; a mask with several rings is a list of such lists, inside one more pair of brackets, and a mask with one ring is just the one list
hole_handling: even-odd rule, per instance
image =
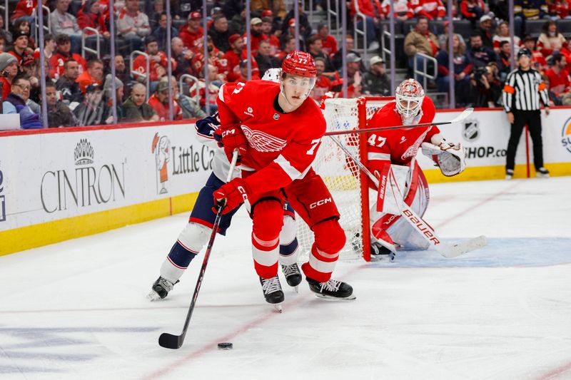
[[[295, 48], [308, 51], [318, 71], [310, 96], [320, 101], [332, 91], [341, 96], [343, 71], [348, 78], [348, 96], [390, 96], [390, 78], [379, 53], [383, 20], [388, 19], [389, 0], [350, 0], [346, 4], [349, 29], [345, 41], [338, 41], [328, 25], [312, 28], [300, 1], [298, 19], [293, 7], [286, 9], [283, 0], [252, 0], [250, 35], [246, 34], [246, 9], [243, 0], [209, 1], [206, 31], [203, 29], [202, 1], [171, 1], [168, 24], [165, 0], [115, 1], [116, 56], [108, 54], [111, 26], [108, 0], [43, 0], [51, 10], [44, 12], [50, 33], [44, 35], [46, 67], [46, 104], [49, 127], [99, 125], [113, 123], [113, 81], [116, 87], [116, 115], [120, 122], [201, 118], [209, 106], [216, 110], [218, 88], [227, 81], [246, 81], [248, 61], [251, 78], [263, 76], [268, 68], [281, 66], [285, 55]], [[314, 1], [325, 9], [330, 1]], [[450, 86], [449, 60], [453, 59], [453, 85], [459, 106], [500, 106], [502, 82], [510, 72], [511, 36], [507, 24], [507, 2], [502, 0], [454, 1], [455, 19], [472, 24], [468, 36], [453, 36], [453, 51], [448, 48], [449, 21], [441, 0], [395, 0], [393, 12], [399, 24], [409, 23], [403, 52], [407, 57], [408, 75], [416, 65], [421, 70], [426, 61], [418, 53], [435, 58], [438, 73], [428, 81], [427, 91], [447, 93]], [[344, 4], [344, 3], [343, 3]], [[41, 117], [41, 65], [36, 36], [37, 0], [19, 0], [9, 9], [8, 30], [0, 16], [0, 85], [4, 113], [19, 113], [22, 128], [44, 128]], [[352, 16], [363, 14], [353, 25]], [[569, 70], [571, 51], [567, 39], [558, 30], [556, 19], [566, 19], [569, 6], [565, 0], [515, 0], [515, 52], [527, 47], [533, 52], [533, 67], [549, 83], [554, 105], [571, 104]], [[540, 34], [523, 34], [528, 20], [545, 19]], [[413, 20], [413, 21], [411, 21]], [[431, 25], [443, 23], [443, 31]], [[295, 27], [298, 24], [298, 41]], [[315, 25], [315, 24], [314, 24]], [[404, 25], [404, 24], [403, 24]], [[355, 49], [352, 29], [365, 29], [368, 34], [366, 62], [363, 51]], [[170, 29], [171, 40], [168, 40]], [[82, 51], [85, 46], [99, 46], [101, 58]], [[204, 56], [204, 34], [208, 56]], [[251, 43], [247, 56], [246, 41]], [[340, 46], [347, 48], [346, 63]], [[171, 61], [168, 62], [168, 48]], [[133, 51], [143, 51], [131, 58]], [[204, 65], [208, 65], [208, 87]], [[116, 78], [111, 77], [115, 66]], [[132, 70], [131, 71], [131, 67]], [[168, 83], [169, 67], [172, 81]], [[422, 76], [417, 74], [422, 80]], [[170, 90], [170, 91], [169, 91]], [[169, 97], [170, 96], [172, 97]]]

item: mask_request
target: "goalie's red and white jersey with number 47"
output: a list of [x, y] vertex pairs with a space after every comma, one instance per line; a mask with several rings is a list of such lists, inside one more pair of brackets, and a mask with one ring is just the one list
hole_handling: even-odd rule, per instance
[[[417, 123], [432, 123], [436, 113], [433, 101], [425, 96], [420, 111], [422, 115]], [[368, 128], [402, 125], [403, 120], [396, 110], [394, 101], [385, 104], [373, 114]], [[425, 128], [401, 128], [367, 133], [368, 168], [374, 172], [382, 172], [385, 165], [408, 165], [420, 149], [420, 144], [430, 142], [430, 138], [440, 130], [436, 126]]]

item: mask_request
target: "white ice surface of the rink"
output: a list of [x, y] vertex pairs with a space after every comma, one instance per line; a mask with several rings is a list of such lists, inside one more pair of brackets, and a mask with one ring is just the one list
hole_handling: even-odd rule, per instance
[[[243, 210], [218, 237], [186, 342], [200, 255], [167, 299], [145, 295], [187, 215], [0, 257], [1, 379], [571, 379], [571, 178], [431, 186], [447, 260], [341, 260], [355, 301], [263, 300]], [[220, 351], [218, 342], [232, 342]]]

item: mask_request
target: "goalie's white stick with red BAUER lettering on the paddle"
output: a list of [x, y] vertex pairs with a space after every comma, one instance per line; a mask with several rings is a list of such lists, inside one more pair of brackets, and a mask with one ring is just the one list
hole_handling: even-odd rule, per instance
[[[373, 175], [373, 173], [370, 173], [370, 170], [368, 170], [368, 168], [366, 168], [365, 165], [363, 165], [363, 163], [360, 162], [360, 160], [355, 158], [355, 156], [353, 156], [347, 150], [347, 148], [345, 148], [343, 144], [340, 143], [339, 140], [337, 140], [337, 138], [333, 137], [332, 135], [330, 135], [329, 137], [333, 140], [335, 144], [339, 146], [339, 148], [341, 148], [341, 150], [343, 150], [343, 152], [345, 152], [346, 155], [348, 155], [348, 157], [351, 160], [353, 160], [355, 165], [357, 165], [358, 168], [362, 170], [363, 173], [365, 173], [368, 176], [368, 178], [370, 178], [370, 180], [372, 180], [373, 183], [375, 183], [375, 185], [378, 188], [379, 187], [378, 178], [376, 178], [375, 175]], [[393, 170], [389, 169], [389, 175], [392, 175], [394, 180]], [[390, 188], [393, 189], [393, 186], [390, 186]], [[440, 253], [440, 255], [443, 255], [444, 257], [447, 258], [458, 257], [466, 252], [477, 250], [478, 248], [481, 248], [486, 245], [486, 237], [484, 235], [480, 235], [473, 239], [459, 242], [458, 244], [455, 245], [449, 245], [442, 242], [438, 237], [438, 235], [436, 235], [436, 232], [433, 229], [433, 227], [430, 227], [430, 225], [427, 222], [425, 222], [422, 217], [416, 215], [416, 212], [414, 212], [412, 208], [410, 208], [405, 202], [402, 201], [403, 195], [401, 194], [400, 189], [398, 189], [398, 186], [397, 186], [397, 192], [398, 193], [395, 194], [393, 190], [393, 196], [395, 197], [395, 200], [398, 200], [398, 202], [400, 202], [400, 207], [401, 207], [400, 215], [402, 215], [405, 218], [405, 220], [408, 223], [410, 223], [410, 225], [415, 227], [415, 229], [420, 233], [420, 235], [422, 235], [422, 237], [426, 241], [428, 241], [430, 245], [435, 247], [435, 250], [437, 250]]]

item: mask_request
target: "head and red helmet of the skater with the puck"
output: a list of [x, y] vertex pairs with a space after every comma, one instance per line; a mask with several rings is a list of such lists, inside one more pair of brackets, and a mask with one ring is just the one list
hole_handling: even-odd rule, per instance
[[281, 95], [290, 106], [297, 108], [315, 86], [315, 61], [309, 53], [292, 51], [283, 60], [281, 71]]

